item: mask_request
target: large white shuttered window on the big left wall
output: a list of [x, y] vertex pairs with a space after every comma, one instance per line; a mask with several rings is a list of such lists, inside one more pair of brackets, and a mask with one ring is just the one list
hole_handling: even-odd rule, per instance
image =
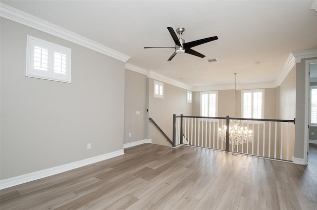
[[26, 75], [70, 83], [71, 50], [27, 36]]

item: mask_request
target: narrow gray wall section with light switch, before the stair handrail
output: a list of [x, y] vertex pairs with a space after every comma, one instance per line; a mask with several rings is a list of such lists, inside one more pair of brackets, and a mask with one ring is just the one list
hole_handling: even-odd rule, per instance
[[146, 80], [144, 74], [125, 70], [124, 144], [146, 139]]

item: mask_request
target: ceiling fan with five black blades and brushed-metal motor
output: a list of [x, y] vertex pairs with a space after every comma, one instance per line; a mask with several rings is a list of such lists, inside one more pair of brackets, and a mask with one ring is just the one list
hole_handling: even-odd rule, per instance
[[215, 36], [215, 37], [209, 37], [209, 38], [200, 39], [200, 40], [185, 43], [185, 40], [182, 39], [182, 34], [185, 32], [185, 28], [180, 27], [180, 28], [176, 29], [176, 32], [179, 34], [179, 39], [178, 39], [173, 28], [167, 27], [167, 29], [168, 29], [170, 35], [172, 36], [172, 38], [175, 42], [175, 47], [144, 47], [144, 49], [149, 49], [149, 48], [173, 48], [173, 49], [175, 49], [175, 52], [168, 58], [168, 61], [171, 60], [176, 54], [181, 54], [184, 52], [188, 53], [188, 54], [196, 55], [198, 57], [205, 57], [205, 55], [203, 55], [202, 53], [194, 51], [191, 48], [218, 39], [218, 37]]

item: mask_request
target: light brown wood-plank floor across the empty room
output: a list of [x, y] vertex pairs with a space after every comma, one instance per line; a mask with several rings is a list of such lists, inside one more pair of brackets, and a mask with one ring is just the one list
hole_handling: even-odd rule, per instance
[[309, 164], [143, 144], [125, 155], [0, 191], [1, 210], [317, 210]]

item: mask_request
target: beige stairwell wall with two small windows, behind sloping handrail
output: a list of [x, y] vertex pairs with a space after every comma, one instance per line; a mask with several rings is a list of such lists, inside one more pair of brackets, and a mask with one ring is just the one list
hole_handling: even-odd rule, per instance
[[[192, 115], [193, 103], [186, 102], [187, 90], [164, 83], [164, 99], [153, 97], [153, 81], [149, 80], [149, 117], [152, 117], [166, 135], [172, 140], [173, 114]], [[171, 146], [165, 138], [149, 123], [148, 138], [159, 145]]]

